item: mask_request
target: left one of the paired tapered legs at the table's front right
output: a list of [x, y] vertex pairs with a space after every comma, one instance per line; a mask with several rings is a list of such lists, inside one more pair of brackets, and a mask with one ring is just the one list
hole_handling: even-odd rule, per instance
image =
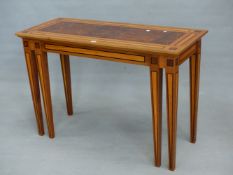
[[161, 166], [163, 69], [151, 68], [151, 102], [155, 166]]

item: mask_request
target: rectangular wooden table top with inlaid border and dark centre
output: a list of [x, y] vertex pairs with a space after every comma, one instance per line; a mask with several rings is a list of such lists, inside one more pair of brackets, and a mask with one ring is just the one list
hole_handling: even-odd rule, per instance
[[179, 55], [206, 33], [207, 30], [56, 18], [16, 35], [81, 46]]

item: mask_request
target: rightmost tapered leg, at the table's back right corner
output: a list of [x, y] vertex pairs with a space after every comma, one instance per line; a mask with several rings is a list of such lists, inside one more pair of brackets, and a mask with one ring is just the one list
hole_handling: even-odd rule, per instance
[[200, 53], [190, 57], [190, 142], [196, 142], [197, 112], [200, 79]]

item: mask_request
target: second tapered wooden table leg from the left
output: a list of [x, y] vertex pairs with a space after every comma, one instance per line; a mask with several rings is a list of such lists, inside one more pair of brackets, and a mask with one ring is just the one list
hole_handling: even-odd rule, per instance
[[48, 133], [50, 138], [54, 138], [55, 133], [54, 133], [54, 124], [53, 124], [53, 111], [52, 111], [52, 100], [50, 93], [47, 53], [40, 49], [36, 49], [36, 59], [37, 59], [40, 85], [41, 85], [43, 101], [44, 101], [44, 110], [48, 125]]

